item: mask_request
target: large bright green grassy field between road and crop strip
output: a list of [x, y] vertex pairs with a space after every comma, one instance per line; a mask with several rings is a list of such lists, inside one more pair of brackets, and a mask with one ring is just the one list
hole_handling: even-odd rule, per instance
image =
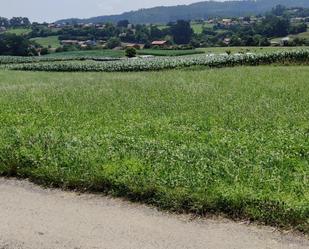
[[0, 71], [0, 174], [309, 232], [307, 66]]

